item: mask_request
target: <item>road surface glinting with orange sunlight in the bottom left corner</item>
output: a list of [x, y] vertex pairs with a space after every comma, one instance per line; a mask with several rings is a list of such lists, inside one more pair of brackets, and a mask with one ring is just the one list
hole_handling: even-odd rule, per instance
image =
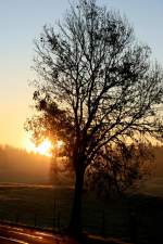
[[70, 236], [0, 223], [0, 244], [77, 244]]

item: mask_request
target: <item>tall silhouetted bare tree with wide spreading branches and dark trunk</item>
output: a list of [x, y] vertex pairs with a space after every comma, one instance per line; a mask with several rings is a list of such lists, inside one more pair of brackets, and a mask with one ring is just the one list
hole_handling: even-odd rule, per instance
[[46, 26], [36, 40], [34, 99], [39, 111], [54, 108], [51, 131], [71, 149], [74, 233], [82, 231], [85, 171], [105, 145], [162, 139], [163, 73], [150, 64], [150, 54], [125, 17], [95, 0], [78, 0], [58, 28]]

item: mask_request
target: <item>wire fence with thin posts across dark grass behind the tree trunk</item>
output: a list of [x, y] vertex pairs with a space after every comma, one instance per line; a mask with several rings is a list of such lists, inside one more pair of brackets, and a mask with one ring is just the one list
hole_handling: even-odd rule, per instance
[[[29, 196], [28, 196], [29, 198]], [[37, 200], [37, 196], [36, 196]], [[0, 220], [51, 231], [65, 230], [70, 222], [72, 196], [36, 201], [12, 200], [0, 202]], [[141, 203], [143, 202], [143, 203]], [[138, 204], [136, 204], [138, 203]], [[155, 201], [153, 201], [155, 203]], [[99, 202], [85, 198], [83, 204], [84, 230], [121, 239], [125, 242], [160, 244], [162, 239], [163, 203], [153, 205], [149, 200]]]

